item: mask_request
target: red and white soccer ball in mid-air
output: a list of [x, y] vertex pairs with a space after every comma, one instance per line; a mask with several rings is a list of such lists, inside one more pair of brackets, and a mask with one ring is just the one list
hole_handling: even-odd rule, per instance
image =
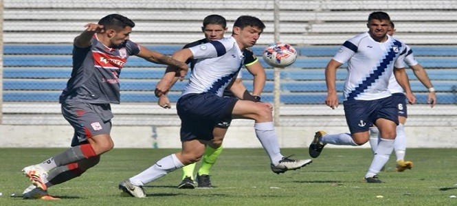
[[276, 43], [263, 49], [263, 60], [271, 67], [284, 68], [297, 60], [296, 49], [287, 43]]

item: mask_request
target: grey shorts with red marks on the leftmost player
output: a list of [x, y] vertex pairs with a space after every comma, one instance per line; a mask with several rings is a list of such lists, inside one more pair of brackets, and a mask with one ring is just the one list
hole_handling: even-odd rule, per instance
[[111, 106], [85, 102], [63, 102], [62, 115], [74, 128], [71, 146], [78, 146], [94, 135], [111, 133]]

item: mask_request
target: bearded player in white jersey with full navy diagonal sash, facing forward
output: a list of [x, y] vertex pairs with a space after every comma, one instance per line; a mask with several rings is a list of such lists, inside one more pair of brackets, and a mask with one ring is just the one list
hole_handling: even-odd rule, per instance
[[365, 175], [367, 183], [382, 182], [377, 174], [388, 161], [397, 136], [398, 108], [388, 91], [392, 73], [405, 89], [408, 101], [416, 101], [403, 63], [406, 45], [387, 35], [389, 25], [390, 16], [386, 12], [372, 12], [368, 16], [368, 32], [350, 38], [328, 62], [325, 69], [328, 92], [325, 103], [331, 108], [339, 104], [335, 87], [336, 69], [348, 63], [343, 104], [350, 134], [327, 135], [318, 131], [309, 146], [309, 155], [313, 158], [320, 155], [326, 144], [361, 146], [369, 140], [370, 126], [375, 124], [381, 138]]

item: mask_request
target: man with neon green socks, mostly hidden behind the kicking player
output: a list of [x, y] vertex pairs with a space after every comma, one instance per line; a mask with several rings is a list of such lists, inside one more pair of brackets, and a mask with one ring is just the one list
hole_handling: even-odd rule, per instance
[[[201, 30], [203, 31], [205, 38], [200, 39], [199, 41], [188, 43], [183, 48], [194, 47], [197, 45], [202, 45], [204, 43], [216, 41], [223, 38], [225, 32], [227, 31], [227, 21], [223, 16], [217, 14], [206, 16], [205, 19], [203, 19], [203, 27], [201, 27]], [[263, 87], [265, 86], [267, 76], [262, 65], [260, 65], [260, 61], [258, 60], [258, 58], [256, 58], [256, 56], [251, 50], [245, 49], [245, 51], [243, 51], [243, 56], [245, 56], [243, 65], [245, 65], [245, 67], [249, 69], [249, 72], [252, 73], [252, 75], [254, 76], [254, 90], [252, 91], [252, 95], [250, 95], [249, 92], [247, 92], [247, 89], [243, 85], [241, 79], [241, 71], [238, 72], [238, 76], [234, 80], [234, 83], [232, 84], [231, 88], [236, 89], [238, 91], [244, 91], [246, 93], [245, 96], [247, 98], [251, 98], [252, 101], [258, 102], [260, 101], [260, 93], [262, 93]], [[190, 58], [186, 60], [186, 63], [190, 63], [190, 69], [193, 69], [194, 65], [197, 63], [197, 60], [198, 59]], [[175, 78], [172, 84], [175, 84], [177, 80], [178, 78]], [[225, 89], [223, 96], [226, 98], [236, 98], [229, 88]], [[162, 106], [164, 108], [170, 108], [170, 100], [168, 100], [166, 94], [161, 95], [159, 97], [158, 104], [159, 106]], [[206, 146], [205, 154], [202, 158], [201, 167], [197, 172], [196, 179], [198, 187], [212, 187], [212, 183], [210, 180], [210, 170], [212, 168], [212, 165], [216, 163], [216, 160], [219, 158], [219, 155], [221, 155], [221, 152], [223, 150], [222, 141], [225, 137], [225, 133], [227, 133], [227, 129], [230, 126], [231, 122], [232, 119], [223, 119], [214, 127], [214, 139], [208, 142], [208, 146]], [[195, 165], [196, 163], [191, 163], [190, 165], [186, 165], [183, 167], [183, 177], [181, 183], [179, 183], [178, 185], [179, 189], [195, 188]]]

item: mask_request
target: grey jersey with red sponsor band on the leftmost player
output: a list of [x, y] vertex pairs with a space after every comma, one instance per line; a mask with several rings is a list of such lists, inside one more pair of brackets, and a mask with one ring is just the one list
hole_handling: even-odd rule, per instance
[[73, 48], [73, 70], [60, 103], [71, 100], [91, 104], [119, 104], [119, 75], [127, 58], [140, 53], [140, 46], [126, 41], [118, 48], [109, 48], [96, 35], [91, 46]]

